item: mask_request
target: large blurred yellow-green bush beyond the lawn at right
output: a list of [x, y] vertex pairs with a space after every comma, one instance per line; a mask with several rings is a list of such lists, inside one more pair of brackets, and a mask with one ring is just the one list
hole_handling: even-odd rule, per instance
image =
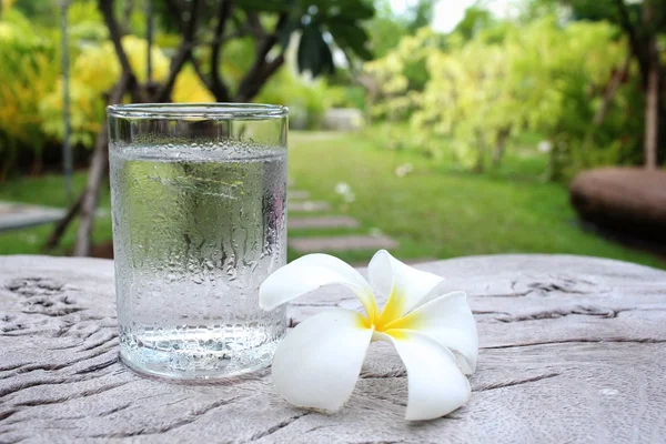
[[[497, 164], [525, 130], [551, 142], [552, 179], [633, 160], [640, 137], [633, 81], [620, 84], [606, 118], [594, 123], [613, 74], [627, 58], [617, 28], [606, 22], [562, 27], [546, 17], [464, 37], [458, 30], [442, 44], [420, 31], [369, 63], [366, 72], [380, 89], [373, 115], [407, 119], [411, 145], [475, 171]], [[406, 67], [423, 60], [427, 78], [420, 89]]]

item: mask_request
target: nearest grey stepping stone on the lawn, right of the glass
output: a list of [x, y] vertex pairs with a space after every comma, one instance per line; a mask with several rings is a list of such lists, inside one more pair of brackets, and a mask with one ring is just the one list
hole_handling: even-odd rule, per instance
[[346, 236], [317, 236], [296, 238], [289, 241], [289, 246], [302, 253], [322, 251], [352, 251], [394, 249], [397, 242], [385, 235], [346, 235]]

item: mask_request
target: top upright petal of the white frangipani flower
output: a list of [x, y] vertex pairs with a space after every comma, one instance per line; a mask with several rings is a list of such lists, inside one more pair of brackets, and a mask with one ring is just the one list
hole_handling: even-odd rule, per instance
[[389, 301], [382, 313], [382, 322], [396, 320], [414, 309], [443, 278], [416, 270], [400, 262], [387, 251], [380, 250], [367, 265], [370, 283]]

